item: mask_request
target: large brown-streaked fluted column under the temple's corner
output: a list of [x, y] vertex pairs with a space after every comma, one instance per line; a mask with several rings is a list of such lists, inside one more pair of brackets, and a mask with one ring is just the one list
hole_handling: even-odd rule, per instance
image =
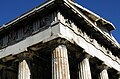
[[52, 53], [52, 79], [70, 79], [67, 48], [59, 45]]

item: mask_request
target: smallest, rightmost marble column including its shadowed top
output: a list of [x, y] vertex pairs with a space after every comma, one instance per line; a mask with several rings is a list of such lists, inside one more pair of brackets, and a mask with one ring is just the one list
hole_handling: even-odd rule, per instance
[[103, 64], [102, 68], [101, 68], [99, 79], [109, 79], [107, 69], [108, 69], [108, 67]]

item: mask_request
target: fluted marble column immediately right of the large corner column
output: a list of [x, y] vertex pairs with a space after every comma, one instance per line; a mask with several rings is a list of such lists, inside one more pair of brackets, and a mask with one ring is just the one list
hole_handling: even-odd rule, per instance
[[89, 58], [90, 56], [86, 56], [78, 65], [79, 79], [91, 79]]

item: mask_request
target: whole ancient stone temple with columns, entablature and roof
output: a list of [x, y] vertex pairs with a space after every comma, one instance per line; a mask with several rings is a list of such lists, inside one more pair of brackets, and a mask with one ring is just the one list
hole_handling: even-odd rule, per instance
[[48, 0], [0, 27], [0, 79], [120, 79], [112, 23]]

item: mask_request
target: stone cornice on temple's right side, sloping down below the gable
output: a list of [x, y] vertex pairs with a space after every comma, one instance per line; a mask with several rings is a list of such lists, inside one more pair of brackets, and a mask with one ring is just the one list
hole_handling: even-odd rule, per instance
[[[91, 20], [89, 20], [87, 16], [82, 13], [82, 11], [78, 10], [77, 7], [68, 2], [68, 0], [64, 0], [64, 5], [61, 4], [59, 8], [61, 9], [61, 11], [67, 14], [68, 17], [72, 17], [75, 22], [78, 22], [78, 24], [82, 19], [84, 21], [83, 23], [86, 24], [86, 26], [83, 27], [84, 29], [90, 31], [90, 33], [94, 35], [96, 39], [99, 39], [101, 43], [103, 43], [107, 48], [114, 51], [114, 55], [119, 54], [120, 46], [118, 45], [118, 43], [115, 42], [111, 36], [105, 35], [100, 28], [98, 28]], [[108, 22], [108, 24], [110, 23]]]

